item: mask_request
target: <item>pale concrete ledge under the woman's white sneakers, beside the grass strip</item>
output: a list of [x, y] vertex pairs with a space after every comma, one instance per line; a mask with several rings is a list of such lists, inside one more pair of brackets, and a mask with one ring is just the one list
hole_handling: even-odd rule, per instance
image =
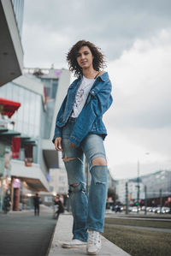
[[[70, 256], [77, 255], [82, 256], [86, 255], [85, 247], [66, 249], [62, 248], [62, 241], [69, 241], [72, 239], [72, 226], [73, 226], [73, 217], [69, 214], [61, 214], [58, 222], [56, 223], [56, 229], [52, 237], [49, 256]], [[102, 236], [103, 247], [99, 256], [129, 256], [130, 254], [124, 252], [120, 247], [115, 246], [112, 242], [107, 240]]]

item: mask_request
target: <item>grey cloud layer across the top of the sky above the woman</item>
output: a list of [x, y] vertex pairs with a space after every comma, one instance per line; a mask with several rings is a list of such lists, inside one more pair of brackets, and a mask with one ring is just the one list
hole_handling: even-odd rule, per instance
[[[171, 27], [170, 9], [169, 0], [26, 0], [22, 34], [25, 65], [56, 63], [66, 67], [65, 53], [80, 39], [94, 42], [111, 61], [129, 50], [136, 39]], [[52, 35], [56, 35], [55, 41]], [[64, 39], [64, 44], [56, 44], [57, 39]], [[45, 51], [38, 51], [41, 45], [47, 45]]]

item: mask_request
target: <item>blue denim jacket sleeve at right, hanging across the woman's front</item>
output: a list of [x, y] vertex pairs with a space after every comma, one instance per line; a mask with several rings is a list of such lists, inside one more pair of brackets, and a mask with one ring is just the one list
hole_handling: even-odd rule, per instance
[[88, 100], [83, 110], [81, 110], [69, 141], [76, 146], [80, 146], [80, 142], [91, 130], [96, 117], [103, 116], [104, 112], [109, 109], [112, 101], [110, 81], [107, 84], [105, 83], [100, 91], [92, 90], [91, 100]]

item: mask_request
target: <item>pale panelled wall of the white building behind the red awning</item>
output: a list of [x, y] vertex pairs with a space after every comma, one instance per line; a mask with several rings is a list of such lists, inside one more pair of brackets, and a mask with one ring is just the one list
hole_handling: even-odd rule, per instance
[[[0, 87], [2, 98], [14, 100], [21, 103], [19, 110], [10, 118], [10, 122], [15, 122], [14, 129], [21, 135], [26, 135], [36, 142], [33, 146], [33, 163], [40, 166], [40, 170], [48, 179], [48, 169], [44, 163], [42, 152], [42, 118], [45, 113], [44, 108], [44, 85], [38, 80], [21, 76], [13, 82]], [[21, 148], [19, 161], [24, 161], [24, 148]], [[15, 170], [15, 163], [13, 163]], [[47, 186], [46, 186], [47, 188]]]

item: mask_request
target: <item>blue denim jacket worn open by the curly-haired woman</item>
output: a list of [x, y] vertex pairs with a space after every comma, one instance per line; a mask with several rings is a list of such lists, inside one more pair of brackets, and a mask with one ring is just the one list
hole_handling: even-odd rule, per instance
[[[80, 86], [83, 76], [80, 77], [69, 86], [68, 93], [62, 102], [62, 106], [56, 116], [56, 128], [53, 137], [53, 143], [56, 137], [62, 137], [62, 127], [68, 122], [69, 116], [73, 111], [76, 92]], [[69, 141], [76, 146], [80, 146], [80, 142], [87, 134], [101, 134], [103, 140], [107, 135], [106, 128], [103, 124], [103, 113], [109, 109], [112, 104], [111, 82], [107, 72], [98, 76], [91, 87], [85, 105], [77, 117], [73, 132]]]

